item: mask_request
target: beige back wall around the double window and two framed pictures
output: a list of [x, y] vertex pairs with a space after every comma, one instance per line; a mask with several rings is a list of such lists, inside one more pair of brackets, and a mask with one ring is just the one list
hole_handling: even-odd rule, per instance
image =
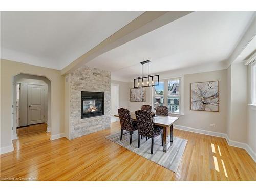
[[[162, 74], [164, 78], [171, 77], [169, 75]], [[183, 74], [176, 76], [183, 76]], [[195, 129], [214, 131], [220, 133], [226, 133], [227, 123], [227, 70], [218, 70], [211, 72], [195, 73], [184, 75], [184, 115], [174, 115], [179, 117], [177, 125], [191, 127]], [[220, 81], [220, 111], [219, 112], [207, 112], [207, 111], [192, 111], [190, 110], [190, 83], [193, 82], [205, 82], [205, 81]], [[129, 87], [133, 88], [133, 82], [129, 83]], [[130, 93], [129, 93], [130, 95]], [[151, 90], [146, 88], [146, 102], [129, 102], [130, 111], [136, 111], [141, 109], [144, 104], [152, 105], [151, 103]], [[130, 101], [130, 98], [129, 98]], [[210, 126], [215, 124], [215, 127]]]

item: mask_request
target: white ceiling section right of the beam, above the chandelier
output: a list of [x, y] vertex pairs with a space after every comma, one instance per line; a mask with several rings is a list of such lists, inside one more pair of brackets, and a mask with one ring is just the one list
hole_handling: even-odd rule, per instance
[[141, 75], [139, 63], [148, 59], [151, 73], [197, 65], [212, 69], [215, 63], [219, 67], [229, 58], [252, 16], [253, 12], [193, 12], [106, 52], [87, 65], [109, 70], [112, 79], [127, 82]]

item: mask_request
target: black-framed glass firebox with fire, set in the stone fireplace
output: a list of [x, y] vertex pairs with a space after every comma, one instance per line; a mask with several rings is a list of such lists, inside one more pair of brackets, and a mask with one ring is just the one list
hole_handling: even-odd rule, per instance
[[104, 115], [104, 93], [81, 91], [81, 119]]

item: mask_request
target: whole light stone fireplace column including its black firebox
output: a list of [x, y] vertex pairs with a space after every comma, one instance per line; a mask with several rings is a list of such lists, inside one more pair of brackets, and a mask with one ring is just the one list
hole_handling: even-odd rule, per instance
[[110, 72], [82, 66], [70, 74], [70, 139], [110, 127]]

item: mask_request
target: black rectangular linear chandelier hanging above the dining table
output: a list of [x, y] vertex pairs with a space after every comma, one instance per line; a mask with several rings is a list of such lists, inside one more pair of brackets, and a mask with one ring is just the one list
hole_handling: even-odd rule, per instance
[[[147, 76], [143, 77], [143, 65], [147, 63]], [[134, 88], [151, 87], [159, 85], [159, 75], [149, 74], [150, 60], [140, 62], [141, 64], [141, 77], [133, 80]]]

